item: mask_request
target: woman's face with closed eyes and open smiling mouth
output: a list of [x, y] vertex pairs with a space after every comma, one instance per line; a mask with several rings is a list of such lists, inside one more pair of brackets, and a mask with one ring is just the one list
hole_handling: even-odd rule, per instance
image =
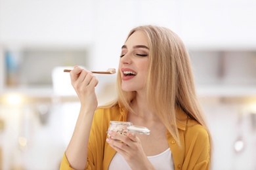
[[121, 48], [119, 71], [121, 88], [125, 92], [144, 90], [148, 75], [148, 38], [142, 31], [135, 31]]

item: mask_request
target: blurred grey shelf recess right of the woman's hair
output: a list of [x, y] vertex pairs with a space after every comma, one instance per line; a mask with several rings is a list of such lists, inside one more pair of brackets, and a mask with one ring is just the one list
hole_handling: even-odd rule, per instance
[[200, 96], [256, 96], [256, 51], [190, 50]]

